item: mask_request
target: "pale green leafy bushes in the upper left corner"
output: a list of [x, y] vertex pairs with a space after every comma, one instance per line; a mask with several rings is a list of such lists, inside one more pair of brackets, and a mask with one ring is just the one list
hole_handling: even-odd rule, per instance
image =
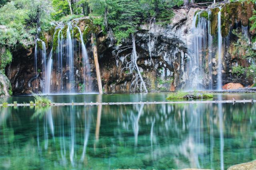
[[37, 33], [38, 27], [42, 30], [49, 29], [50, 18], [46, 13], [45, 1], [40, 18], [37, 21], [30, 18], [32, 10], [40, 3], [39, 0], [14, 0], [0, 8], [0, 25], [5, 25], [5, 29], [0, 29], [0, 46], [13, 48], [21, 44], [23, 47], [28, 47], [32, 44], [32, 35]]

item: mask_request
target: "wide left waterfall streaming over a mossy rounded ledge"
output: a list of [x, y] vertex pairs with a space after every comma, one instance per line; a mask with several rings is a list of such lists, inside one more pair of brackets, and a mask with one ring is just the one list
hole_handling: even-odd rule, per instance
[[[52, 38], [53, 46], [49, 55], [47, 55], [45, 42], [39, 38], [36, 39], [36, 77], [41, 75], [37, 86], [40, 85], [44, 94], [85, 92], [85, 89], [86, 92], [92, 92], [89, 57], [84, 44], [83, 32], [76, 24], [77, 22], [70, 21], [67, 25], [60, 23], [55, 27]], [[75, 28], [79, 31], [80, 39], [77, 37], [78, 34], [75, 35], [77, 33], [74, 31]], [[37, 62], [38, 57], [41, 59], [40, 64]], [[41, 74], [38, 74], [38, 70], [41, 70]]]

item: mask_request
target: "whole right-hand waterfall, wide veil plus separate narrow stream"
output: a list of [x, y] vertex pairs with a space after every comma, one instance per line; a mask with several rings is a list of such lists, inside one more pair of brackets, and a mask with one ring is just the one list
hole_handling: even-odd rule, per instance
[[[221, 12], [218, 12], [218, 37], [212, 35], [211, 30], [211, 10], [207, 10], [208, 16], [201, 17], [202, 11], [194, 15], [192, 22], [192, 45], [190, 45], [189, 52], [192, 55], [190, 70], [188, 73], [189, 90], [213, 90], [214, 82], [217, 87], [215, 89], [222, 89], [222, 35], [221, 35]], [[206, 14], [206, 15], [207, 15]], [[218, 46], [214, 44], [214, 38], [218, 38]], [[229, 41], [229, 37], [227, 37]], [[218, 50], [215, 50], [218, 47]], [[215, 55], [216, 54], [216, 55]], [[214, 56], [216, 56], [216, 74], [214, 74]], [[217, 58], [218, 57], [218, 58]], [[216, 75], [214, 79], [213, 74]], [[205, 80], [207, 79], [207, 81]], [[217, 80], [217, 81], [216, 81]]]

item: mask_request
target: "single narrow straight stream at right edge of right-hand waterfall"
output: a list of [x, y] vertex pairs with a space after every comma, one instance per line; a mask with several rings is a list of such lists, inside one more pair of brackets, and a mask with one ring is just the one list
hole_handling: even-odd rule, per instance
[[[220, 8], [221, 10], [221, 8]], [[222, 36], [221, 36], [221, 12], [218, 12], [218, 78], [217, 89], [222, 90]]]

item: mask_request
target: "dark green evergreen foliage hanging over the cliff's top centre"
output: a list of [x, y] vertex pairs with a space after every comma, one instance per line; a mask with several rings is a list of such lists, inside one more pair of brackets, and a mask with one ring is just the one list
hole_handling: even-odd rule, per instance
[[89, 0], [92, 15], [100, 17], [94, 19], [95, 23], [112, 30], [118, 43], [134, 33], [143, 20], [170, 22], [174, 16], [172, 8], [182, 4], [180, 0]]

